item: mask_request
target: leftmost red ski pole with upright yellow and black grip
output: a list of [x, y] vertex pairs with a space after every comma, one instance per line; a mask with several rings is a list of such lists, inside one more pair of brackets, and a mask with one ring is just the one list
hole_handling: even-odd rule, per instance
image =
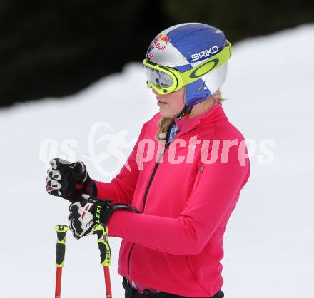
[[62, 267], [64, 267], [64, 255], [66, 253], [66, 231], [69, 229], [67, 225], [56, 225], [56, 292], [55, 298], [61, 295], [61, 278]]

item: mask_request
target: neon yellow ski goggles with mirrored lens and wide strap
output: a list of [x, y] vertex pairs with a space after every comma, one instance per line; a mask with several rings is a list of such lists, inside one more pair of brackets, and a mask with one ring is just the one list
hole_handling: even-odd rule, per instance
[[147, 78], [146, 84], [148, 88], [153, 88], [159, 94], [178, 91], [183, 86], [197, 81], [202, 76], [213, 71], [213, 69], [222, 66], [230, 58], [231, 43], [226, 41], [226, 46], [222, 51], [183, 73], [175, 68], [162, 66], [144, 59], [143, 66]]

